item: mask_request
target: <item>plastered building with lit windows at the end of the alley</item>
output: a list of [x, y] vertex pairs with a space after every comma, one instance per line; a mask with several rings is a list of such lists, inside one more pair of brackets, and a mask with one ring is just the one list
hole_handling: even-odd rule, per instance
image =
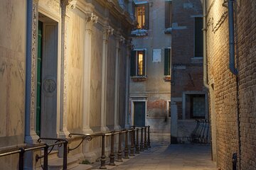
[[166, 30], [171, 28], [171, 1], [134, 1], [134, 6], [129, 123], [169, 133], [171, 34]]

